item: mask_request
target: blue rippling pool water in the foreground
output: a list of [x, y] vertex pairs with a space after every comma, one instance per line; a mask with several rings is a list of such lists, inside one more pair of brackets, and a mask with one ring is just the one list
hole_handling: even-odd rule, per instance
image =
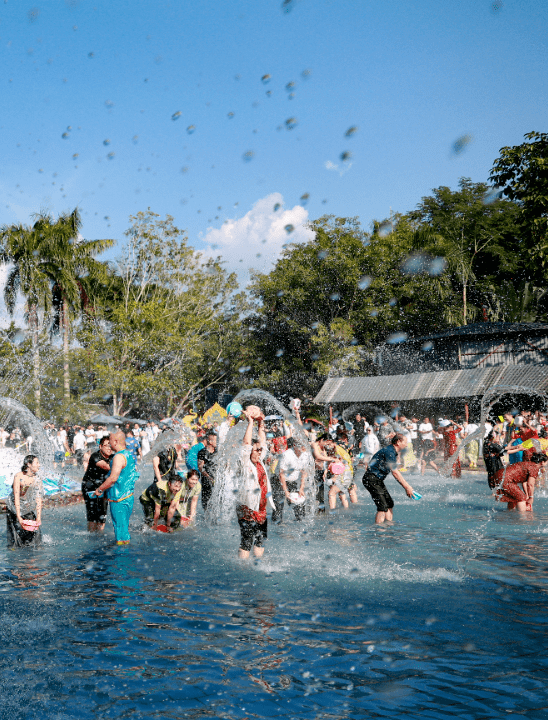
[[1, 550], [2, 718], [545, 720], [548, 499], [523, 518], [482, 475], [411, 481], [392, 526], [363, 490], [286, 512], [260, 563], [235, 524], [141, 532], [136, 503], [118, 549], [47, 510], [40, 550]]

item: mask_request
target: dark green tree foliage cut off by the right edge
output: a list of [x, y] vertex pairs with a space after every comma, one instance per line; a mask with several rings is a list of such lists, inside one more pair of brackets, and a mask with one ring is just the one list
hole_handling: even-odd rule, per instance
[[548, 133], [530, 132], [525, 139], [501, 148], [490, 179], [518, 204], [523, 251], [540, 264], [543, 281], [548, 266]]

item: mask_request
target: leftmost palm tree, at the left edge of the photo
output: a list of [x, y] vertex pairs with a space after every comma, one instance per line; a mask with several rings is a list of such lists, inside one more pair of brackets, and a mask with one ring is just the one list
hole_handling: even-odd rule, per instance
[[17, 293], [27, 299], [26, 319], [31, 331], [34, 411], [40, 417], [40, 311], [51, 308], [51, 283], [44, 271], [45, 238], [35, 223], [32, 227], [11, 225], [0, 228], [0, 263], [13, 264], [4, 286], [4, 300], [13, 315]]

